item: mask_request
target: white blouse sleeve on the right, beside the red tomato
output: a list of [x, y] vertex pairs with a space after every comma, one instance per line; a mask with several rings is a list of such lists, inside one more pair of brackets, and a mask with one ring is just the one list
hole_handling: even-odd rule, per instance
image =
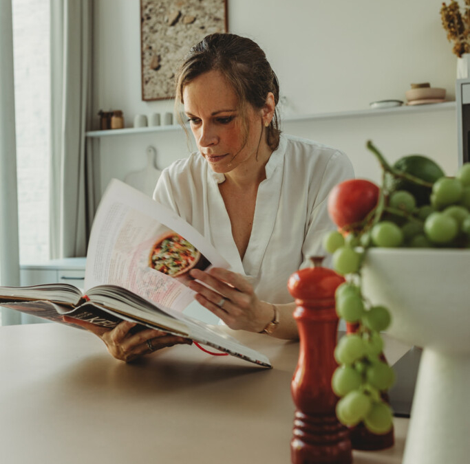
[[325, 233], [337, 228], [328, 215], [328, 194], [334, 186], [352, 178], [354, 178], [354, 169], [350, 160], [341, 151], [336, 151], [325, 167], [317, 198], [310, 211], [302, 246], [303, 263], [301, 267], [310, 265], [310, 256], [325, 256], [323, 265], [331, 267], [331, 255], [325, 252], [322, 245]]

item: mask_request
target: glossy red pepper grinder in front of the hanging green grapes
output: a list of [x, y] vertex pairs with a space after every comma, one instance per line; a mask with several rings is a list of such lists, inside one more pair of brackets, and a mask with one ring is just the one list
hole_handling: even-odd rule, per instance
[[312, 267], [290, 276], [288, 289], [295, 298], [294, 318], [299, 327], [299, 362], [292, 378], [295, 411], [290, 441], [292, 464], [352, 463], [350, 432], [337, 419], [338, 397], [331, 387], [337, 368], [338, 316], [334, 292], [344, 282], [336, 272], [321, 267], [323, 257], [310, 258]]

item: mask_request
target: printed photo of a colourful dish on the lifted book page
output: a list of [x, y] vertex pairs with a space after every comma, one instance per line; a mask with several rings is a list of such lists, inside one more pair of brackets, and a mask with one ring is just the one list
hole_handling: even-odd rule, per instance
[[172, 230], [157, 239], [149, 254], [149, 267], [180, 280], [190, 280], [191, 269], [204, 270], [210, 264], [194, 245]]

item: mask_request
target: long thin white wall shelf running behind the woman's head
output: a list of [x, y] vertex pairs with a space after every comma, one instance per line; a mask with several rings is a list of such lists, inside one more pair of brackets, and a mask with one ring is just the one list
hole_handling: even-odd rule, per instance
[[[393, 108], [377, 108], [377, 109], [359, 109], [356, 111], [337, 111], [335, 113], [317, 113], [307, 115], [290, 115], [281, 118], [282, 122], [298, 122], [308, 120], [331, 120], [341, 118], [363, 118], [363, 117], [376, 117], [381, 115], [399, 115], [399, 114], [414, 114], [414, 113], [427, 113], [432, 111], [452, 110], [456, 108], [456, 102], [443, 102], [420, 104], [416, 106], [403, 105], [401, 107]], [[111, 129], [109, 131], [88, 131], [85, 133], [87, 137], [107, 137], [108, 135], [137, 135], [142, 133], [153, 133], [160, 131], [181, 131], [180, 124], [173, 124], [171, 126], [154, 126], [154, 127], [129, 127], [127, 129]]]

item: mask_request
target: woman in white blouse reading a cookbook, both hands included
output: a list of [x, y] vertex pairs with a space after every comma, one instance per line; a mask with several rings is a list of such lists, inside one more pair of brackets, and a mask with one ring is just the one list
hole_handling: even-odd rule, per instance
[[[180, 67], [175, 99], [198, 151], [165, 169], [153, 196], [231, 263], [230, 271], [193, 269], [195, 299], [231, 329], [295, 339], [288, 277], [323, 253], [322, 236], [334, 227], [328, 192], [354, 173], [343, 153], [281, 134], [278, 101], [277, 78], [256, 43], [206, 36]], [[158, 331], [133, 334], [132, 327], [90, 329], [126, 361], [189, 342]]]

